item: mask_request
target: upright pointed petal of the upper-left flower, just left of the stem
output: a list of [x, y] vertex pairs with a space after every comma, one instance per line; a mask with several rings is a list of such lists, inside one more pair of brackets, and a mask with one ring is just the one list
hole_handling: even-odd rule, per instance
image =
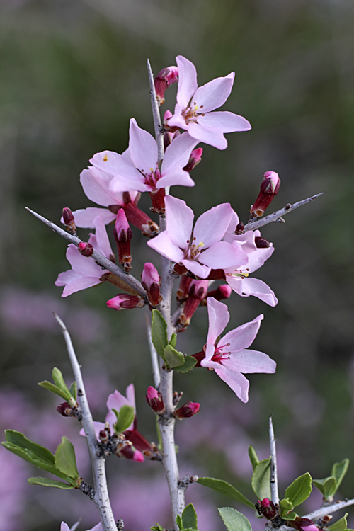
[[156, 141], [149, 132], [137, 125], [135, 118], [130, 120], [129, 154], [133, 164], [140, 171], [150, 173], [156, 170]]

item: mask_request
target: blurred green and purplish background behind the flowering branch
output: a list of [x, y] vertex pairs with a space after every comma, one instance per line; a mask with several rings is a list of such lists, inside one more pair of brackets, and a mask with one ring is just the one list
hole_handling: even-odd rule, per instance
[[[84, 452], [75, 421], [57, 418], [57, 401], [37, 387], [54, 365], [72, 378], [55, 310], [72, 331], [96, 419], [103, 420], [110, 392], [134, 382], [139, 427], [156, 440], [144, 399], [152, 384], [148, 312], [105, 309], [115, 295], [106, 285], [60, 299], [54, 282], [69, 268], [66, 244], [24, 207], [59, 222], [62, 207], [94, 206], [79, 173], [94, 153], [126, 149], [130, 118], [153, 132], [146, 59], [157, 74], [181, 54], [195, 63], [200, 85], [236, 72], [224, 108], [253, 129], [227, 135], [226, 152], [203, 146], [195, 188], [172, 193], [197, 215], [229, 201], [246, 222], [265, 171], [282, 179], [272, 210], [326, 192], [285, 224], [263, 229], [275, 253], [254, 276], [273, 288], [278, 306], [236, 294], [227, 302], [232, 327], [265, 314], [254, 346], [278, 362], [276, 375], [251, 375], [246, 405], [208, 371], [176, 378], [185, 399], [201, 404], [199, 415], [177, 429], [183, 474], [228, 479], [252, 497], [246, 449], [252, 443], [267, 457], [270, 414], [282, 486], [295, 474], [324, 477], [334, 461], [353, 460], [353, 23], [351, 0], [0, 0], [1, 429], [27, 430], [51, 450], [69, 433]], [[172, 86], [163, 111], [173, 110], [175, 96]], [[148, 209], [148, 198], [140, 205]], [[132, 273], [139, 278], [144, 261], [159, 259], [137, 230], [133, 241]], [[200, 309], [180, 349], [198, 352], [206, 332]], [[61, 520], [72, 525], [81, 516], [80, 529], [97, 522], [81, 493], [27, 487], [37, 472], [0, 452], [13, 467], [0, 467], [0, 531], [55, 531]], [[169, 525], [166, 493], [149, 498], [154, 481], [161, 484], [161, 465], [115, 461], [108, 462], [111, 492], [125, 529], [147, 530], [160, 514]], [[205, 511], [202, 531], [222, 530], [216, 503], [231, 501], [202, 486], [190, 492]], [[353, 468], [341, 494], [354, 495]], [[142, 520], [134, 520], [137, 506]]]

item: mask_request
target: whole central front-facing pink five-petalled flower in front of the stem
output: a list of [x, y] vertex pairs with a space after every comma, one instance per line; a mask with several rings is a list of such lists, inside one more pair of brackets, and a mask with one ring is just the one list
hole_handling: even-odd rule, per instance
[[232, 218], [229, 203], [204, 212], [193, 233], [194, 214], [185, 201], [168, 195], [165, 205], [166, 231], [149, 240], [149, 247], [175, 263], [182, 263], [199, 278], [207, 278], [212, 269], [238, 268], [247, 263], [247, 255], [239, 244], [221, 241]]

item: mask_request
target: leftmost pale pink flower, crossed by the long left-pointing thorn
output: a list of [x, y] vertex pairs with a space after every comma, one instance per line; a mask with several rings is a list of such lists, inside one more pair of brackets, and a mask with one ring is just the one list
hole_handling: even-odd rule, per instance
[[[89, 244], [103, 256], [113, 257], [103, 218], [101, 216], [95, 217], [93, 224], [96, 227], [96, 234], [90, 235]], [[102, 275], [108, 273], [93, 258], [83, 256], [74, 244], [69, 244], [67, 248], [67, 259], [72, 269], [60, 273], [55, 281], [56, 286], [64, 286], [62, 297], [101, 284]]]

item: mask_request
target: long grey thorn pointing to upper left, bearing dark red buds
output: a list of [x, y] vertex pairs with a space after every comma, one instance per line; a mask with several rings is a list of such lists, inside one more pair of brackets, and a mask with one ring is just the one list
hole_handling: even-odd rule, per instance
[[[61, 229], [55, 223], [49, 221], [48, 219], [45, 219], [45, 217], [42, 217], [40, 214], [37, 214], [37, 212], [30, 210], [30, 208], [25, 207], [25, 209], [28, 210], [30, 214], [37, 217], [37, 219], [40, 219], [41, 222], [47, 225], [47, 227], [50, 227], [50, 229], [52, 229], [54, 232], [57, 232], [57, 234], [62, 236], [67, 241], [70, 241], [71, 244], [74, 244], [77, 247], [81, 243], [81, 239], [79, 239], [77, 236], [72, 236], [72, 234], [69, 234], [69, 232], [64, 231], [64, 229]], [[93, 251], [92, 258], [100, 265], [103, 265], [103, 267], [110, 271], [110, 273], [113, 273], [113, 275], [116, 275], [121, 280], [124, 280], [124, 282], [129, 284], [137, 293], [139, 293], [139, 295], [141, 295], [141, 297], [147, 300], [147, 292], [144, 290], [139, 280], [137, 280], [132, 275], [126, 275], [125, 273], [123, 273], [122, 270], [118, 268], [118, 265], [115, 265], [115, 263], [111, 262], [105, 256], [102, 256], [97, 251]]]

